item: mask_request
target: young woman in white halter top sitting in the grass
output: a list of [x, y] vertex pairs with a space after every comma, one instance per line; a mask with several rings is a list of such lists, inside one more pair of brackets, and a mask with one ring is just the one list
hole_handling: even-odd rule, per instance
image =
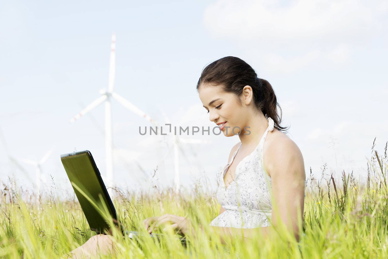
[[[258, 78], [244, 60], [223, 57], [203, 69], [197, 91], [210, 121], [225, 136], [240, 138], [219, 175], [221, 209], [210, 223], [213, 234], [221, 242], [241, 235], [241, 228], [247, 238], [257, 231], [270, 235], [271, 219], [272, 225], [282, 223], [298, 240], [305, 197], [304, 162], [298, 146], [282, 132], [286, 128], [280, 125], [279, 104], [270, 83]], [[149, 233], [162, 224], [183, 235], [192, 229], [189, 219], [171, 214], [143, 223]], [[109, 235], [96, 235], [72, 252], [94, 251], [97, 244], [103, 251], [111, 250], [111, 240]]]

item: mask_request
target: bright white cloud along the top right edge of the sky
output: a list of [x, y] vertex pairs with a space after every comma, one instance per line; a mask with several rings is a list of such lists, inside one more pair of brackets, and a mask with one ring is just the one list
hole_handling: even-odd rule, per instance
[[294, 40], [353, 38], [380, 28], [386, 1], [218, 0], [204, 11], [204, 24], [216, 36], [244, 39]]

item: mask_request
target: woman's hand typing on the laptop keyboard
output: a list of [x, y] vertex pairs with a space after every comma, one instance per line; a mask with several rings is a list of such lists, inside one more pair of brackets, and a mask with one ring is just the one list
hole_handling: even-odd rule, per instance
[[182, 236], [187, 235], [189, 231], [192, 231], [192, 234], [194, 234], [194, 230], [190, 220], [177, 215], [164, 214], [163, 216], [146, 218], [144, 219], [143, 223], [145, 229], [148, 230], [148, 233], [152, 233], [152, 231], [157, 230], [157, 228], [161, 225], [166, 225], [163, 230], [166, 230], [167, 228], [172, 228], [178, 231], [178, 234]]

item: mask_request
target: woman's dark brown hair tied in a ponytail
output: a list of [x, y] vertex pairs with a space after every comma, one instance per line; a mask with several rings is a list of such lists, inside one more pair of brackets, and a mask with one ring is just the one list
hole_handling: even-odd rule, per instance
[[[281, 131], [287, 129], [280, 126], [282, 109], [277, 102], [274, 89], [267, 80], [258, 78], [255, 70], [244, 60], [229, 56], [211, 62], [202, 70], [197, 83], [197, 91], [203, 83], [213, 86], [221, 85], [225, 92], [234, 93], [237, 98], [242, 95], [244, 86], [251, 86], [257, 109], [274, 120], [275, 128]], [[277, 107], [279, 107], [280, 114], [277, 112]]]

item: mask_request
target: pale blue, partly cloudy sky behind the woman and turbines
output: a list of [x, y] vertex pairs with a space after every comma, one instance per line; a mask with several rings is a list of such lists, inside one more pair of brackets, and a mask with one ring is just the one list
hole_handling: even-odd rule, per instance
[[[43, 190], [53, 179], [71, 192], [60, 155], [74, 150], [90, 150], [104, 175], [104, 105], [69, 120], [107, 88], [113, 33], [114, 91], [161, 124], [164, 112], [172, 126], [213, 128], [196, 83], [210, 62], [239, 57], [273, 86], [306, 174], [327, 164], [325, 174], [362, 181], [374, 138], [378, 152], [388, 141], [387, 12], [379, 0], [1, 1], [0, 181], [33, 188], [22, 159], [49, 150]], [[171, 139], [142, 136], [152, 124], [115, 101], [112, 110], [115, 185], [172, 186]], [[239, 137], [185, 137], [209, 143], [180, 145], [182, 188], [209, 179], [215, 190]]]

